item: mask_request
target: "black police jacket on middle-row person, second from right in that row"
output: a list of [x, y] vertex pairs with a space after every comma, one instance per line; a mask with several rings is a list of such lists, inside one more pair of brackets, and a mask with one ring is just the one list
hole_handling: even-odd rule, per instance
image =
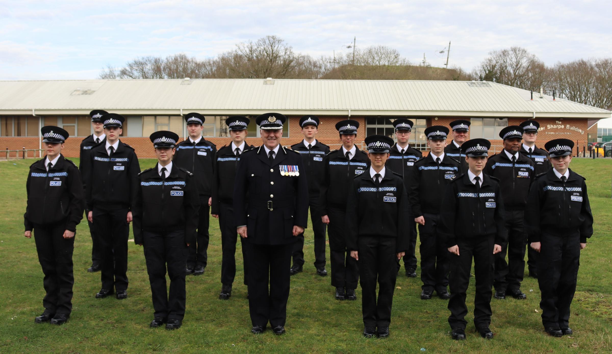
[[459, 162], [448, 154], [438, 164], [433, 154], [420, 159], [414, 164], [412, 179], [406, 183], [410, 206], [414, 217], [440, 213], [440, 201], [444, 190], [455, 177], [460, 175]]

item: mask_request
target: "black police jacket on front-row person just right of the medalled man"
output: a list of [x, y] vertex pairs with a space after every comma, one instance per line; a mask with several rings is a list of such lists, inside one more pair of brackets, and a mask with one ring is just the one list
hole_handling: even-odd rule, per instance
[[383, 180], [376, 187], [370, 170], [353, 179], [346, 203], [346, 248], [359, 250], [359, 236], [397, 238], [395, 252], [408, 250], [413, 218], [404, 182], [398, 173], [385, 168]]

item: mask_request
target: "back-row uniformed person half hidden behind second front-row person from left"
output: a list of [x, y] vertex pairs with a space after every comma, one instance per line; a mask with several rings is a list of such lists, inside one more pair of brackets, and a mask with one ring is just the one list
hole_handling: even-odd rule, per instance
[[200, 113], [188, 113], [185, 115], [187, 122], [187, 133], [189, 138], [181, 141], [176, 146], [174, 163], [178, 167], [191, 171], [200, 193], [200, 221], [198, 221], [198, 237], [189, 246], [189, 257], [185, 272], [187, 274], [204, 274], [207, 262], [208, 249], [208, 227], [211, 206], [212, 177], [215, 167], [215, 154], [217, 146], [202, 137], [203, 124], [206, 119]]

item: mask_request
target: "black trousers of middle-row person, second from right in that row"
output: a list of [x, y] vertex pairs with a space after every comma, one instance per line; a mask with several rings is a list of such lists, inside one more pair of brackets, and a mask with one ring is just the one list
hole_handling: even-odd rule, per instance
[[424, 214], [424, 217], [425, 225], [419, 225], [422, 289], [439, 292], [449, 285], [450, 252], [438, 236], [439, 216]]

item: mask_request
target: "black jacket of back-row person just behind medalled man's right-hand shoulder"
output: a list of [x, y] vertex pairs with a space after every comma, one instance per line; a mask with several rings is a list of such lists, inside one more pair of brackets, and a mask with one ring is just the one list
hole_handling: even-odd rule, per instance
[[302, 162], [304, 162], [307, 177], [306, 180], [308, 181], [308, 195], [310, 195], [310, 197], [319, 195], [321, 183], [323, 183], [325, 178], [323, 160], [325, 156], [329, 154], [329, 146], [316, 140], [315, 145], [308, 150], [304, 145], [304, 140], [302, 140], [296, 145], [291, 145], [291, 149], [300, 153], [302, 156]]

